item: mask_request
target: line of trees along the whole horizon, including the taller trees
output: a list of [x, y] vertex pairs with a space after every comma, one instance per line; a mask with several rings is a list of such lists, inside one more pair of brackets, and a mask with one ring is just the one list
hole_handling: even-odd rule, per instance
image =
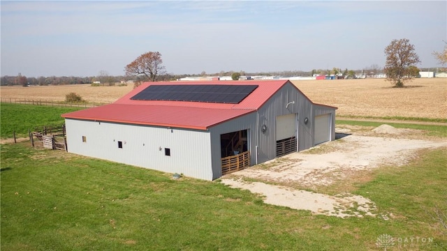
[[[447, 64], [447, 43], [445, 43], [444, 51], [433, 52], [433, 56], [441, 63]], [[207, 74], [202, 71], [200, 74], [184, 74], [175, 75], [167, 73], [165, 66], [163, 66], [163, 59], [161, 59], [160, 52], [145, 52], [138, 56], [134, 61], [124, 67], [126, 75], [111, 76], [107, 71], [101, 70], [97, 76], [94, 77], [25, 77], [20, 73], [17, 76], [3, 76], [1, 77], [0, 85], [60, 85], [60, 84], [102, 84], [115, 85], [120, 82], [135, 82], [134, 86], [138, 86], [145, 81], [173, 81], [182, 77], [207, 77], [207, 76], [232, 76], [233, 79], [238, 79], [236, 76], [281, 76], [281, 77], [309, 77], [314, 75], [342, 75], [344, 78], [355, 78], [356, 75], [362, 74], [365, 77], [374, 77], [377, 74], [385, 74], [388, 81], [395, 84], [395, 86], [402, 87], [404, 82], [411, 81], [414, 77], [418, 77], [419, 71], [430, 71], [430, 68], [417, 68], [416, 64], [420, 63], [419, 57], [415, 52], [414, 45], [409, 43], [406, 38], [392, 40], [383, 51], [386, 55], [385, 66], [373, 64], [361, 70], [348, 70], [345, 68], [330, 69], [313, 69], [306, 72], [302, 70], [285, 70], [279, 72], [269, 73], [246, 73], [240, 71], [223, 71], [219, 73]], [[433, 69], [433, 68], [431, 68]], [[442, 69], [446, 70], [446, 69]]]

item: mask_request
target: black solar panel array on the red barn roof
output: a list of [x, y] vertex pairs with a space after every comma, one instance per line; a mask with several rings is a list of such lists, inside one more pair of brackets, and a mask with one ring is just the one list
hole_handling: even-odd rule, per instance
[[257, 85], [172, 84], [150, 85], [131, 100], [169, 100], [238, 104], [258, 88]]

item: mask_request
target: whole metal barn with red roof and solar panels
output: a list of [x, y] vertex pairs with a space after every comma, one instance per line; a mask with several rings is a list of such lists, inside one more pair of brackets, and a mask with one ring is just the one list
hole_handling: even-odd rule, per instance
[[70, 153], [214, 180], [334, 140], [336, 109], [288, 80], [146, 82], [62, 117]]

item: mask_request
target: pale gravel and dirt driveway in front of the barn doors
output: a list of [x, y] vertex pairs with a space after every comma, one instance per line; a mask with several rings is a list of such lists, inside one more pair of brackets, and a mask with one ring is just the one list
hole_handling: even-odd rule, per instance
[[[346, 130], [349, 129], [344, 131]], [[375, 215], [374, 202], [365, 197], [349, 193], [330, 196], [308, 192], [295, 189], [295, 184], [313, 190], [318, 186], [348, 180], [356, 172], [372, 170], [383, 165], [405, 165], [415, 158], [416, 152], [421, 149], [447, 146], [445, 139], [388, 137], [406, 135], [411, 133], [411, 130], [386, 125], [358, 130], [365, 135], [358, 135], [351, 130], [349, 132], [352, 134], [346, 133], [342, 139], [321, 144], [314, 149], [291, 153], [283, 158], [223, 176], [222, 182], [233, 188], [247, 189], [263, 195], [265, 203], [268, 204], [342, 218]]]

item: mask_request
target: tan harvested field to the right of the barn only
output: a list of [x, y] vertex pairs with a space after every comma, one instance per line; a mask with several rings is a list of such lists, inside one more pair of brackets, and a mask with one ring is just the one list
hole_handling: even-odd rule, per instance
[[447, 79], [418, 78], [406, 88], [384, 79], [294, 81], [312, 101], [338, 107], [337, 116], [447, 118]]

